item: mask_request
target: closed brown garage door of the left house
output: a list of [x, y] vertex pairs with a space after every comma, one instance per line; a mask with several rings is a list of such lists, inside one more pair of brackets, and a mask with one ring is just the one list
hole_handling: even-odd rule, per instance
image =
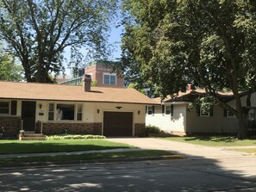
[[104, 112], [103, 135], [133, 136], [133, 113]]

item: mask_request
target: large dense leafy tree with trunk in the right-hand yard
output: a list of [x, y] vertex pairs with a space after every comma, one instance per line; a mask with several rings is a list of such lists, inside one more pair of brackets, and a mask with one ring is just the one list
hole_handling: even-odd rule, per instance
[[[247, 138], [240, 91], [256, 90], [255, 1], [126, 0], [123, 7], [131, 16], [123, 38], [134, 39], [123, 46], [144, 79], [163, 97], [186, 84], [203, 88], [236, 116], [238, 137]], [[224, 89], [233, 92], [234, 107], [222, 99]]]

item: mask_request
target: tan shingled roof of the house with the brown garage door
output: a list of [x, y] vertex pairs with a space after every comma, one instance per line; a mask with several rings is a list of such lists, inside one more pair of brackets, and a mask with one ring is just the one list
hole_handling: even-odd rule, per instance
[[91, 87], [64, 84], [15, 83], [0, 81], [0, 98], [74, 102], [118, 102], [156, 104], [152, 99], [134, 89]]

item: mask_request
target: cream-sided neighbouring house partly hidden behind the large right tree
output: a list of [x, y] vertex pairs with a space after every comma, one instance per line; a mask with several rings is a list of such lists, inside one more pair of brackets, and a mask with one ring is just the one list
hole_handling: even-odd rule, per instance
[[[203, 93], [204, 90], [187, 90], [179, 92], [178, 96], [167, 96], [163, 101], [160, 98], [153, 99], [157, 106], [147, 106], [146, 124], [159, 127], [165, 133], [176, 135], [200, 134], [200, 133], [237, 133], [238, 122], [234, 115], [215, 105], [209, 112], [199, 108], [189, 108], [190, 102], [198, 96], [195, 93]], [[234, 96], [231, 92], [220, 92], [223, 99], [234, 106]], [[242, 96], [241, 102], [247, 106], [247, 96]], [[251, 96], [252, 107], [248, 114], [249, 128], [255, 132], [256, 124], [256, 93]]]

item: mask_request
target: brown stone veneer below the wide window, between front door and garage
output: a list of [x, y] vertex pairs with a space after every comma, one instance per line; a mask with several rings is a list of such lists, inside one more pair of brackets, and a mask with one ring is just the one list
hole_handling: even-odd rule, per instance
[[[40, 127], [40, 125], [37, 125], [37, 127]], [[42, 133], [46, 135], [63, 133], [101, 135], [102, 123], [43, 123]]]

